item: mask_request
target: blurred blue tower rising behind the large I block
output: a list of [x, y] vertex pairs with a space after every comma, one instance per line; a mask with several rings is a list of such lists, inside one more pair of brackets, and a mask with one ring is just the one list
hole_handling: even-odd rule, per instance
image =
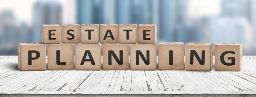
[[186, 42], [187, 0], [160, 1], [161, 37], [168, 42]]

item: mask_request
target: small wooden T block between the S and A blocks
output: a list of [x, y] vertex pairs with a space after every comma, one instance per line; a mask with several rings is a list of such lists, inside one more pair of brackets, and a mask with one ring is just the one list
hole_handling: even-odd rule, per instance
[[99, 43], [99, 24], [81, 24], [81, 43]]

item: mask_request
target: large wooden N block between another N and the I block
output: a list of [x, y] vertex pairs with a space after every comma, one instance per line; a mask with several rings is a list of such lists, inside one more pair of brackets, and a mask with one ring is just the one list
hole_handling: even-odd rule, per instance
[[156, 44], [130, 44], [130, 70], [156, 70]]

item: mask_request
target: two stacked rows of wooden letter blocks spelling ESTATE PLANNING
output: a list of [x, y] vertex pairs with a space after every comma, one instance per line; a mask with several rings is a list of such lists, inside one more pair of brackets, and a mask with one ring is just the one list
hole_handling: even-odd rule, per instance
[[[46, 70], [45, 44], [48, 70], [73, 70], [74, 67], [75, 70], [101, 70], [101, 44], [103, 70], [128, 70], [129, 54], [130, 70], [157, 69], [155, 24], [62, 24], [62, 27], [44, 24], [41, 29], [42, 43], [18, 44], [19, 70]], [[183, 42], [158, 43], [158, 70], [184, 68], [211, 71], [213, 44], [188, 43], [184, 46]], [[241, 43], [215, 45], [216, 71], [241, 69]]]

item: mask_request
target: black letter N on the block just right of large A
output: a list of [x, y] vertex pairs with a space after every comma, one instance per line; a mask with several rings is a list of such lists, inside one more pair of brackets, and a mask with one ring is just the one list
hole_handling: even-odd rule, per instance
[[115, 61], [119, 65], [123, 65], [123, 50], [119, 50], [120, 60], [118, 59], [118, 57], [116, 56], [116, 54], [115, 54], [115, 52], [113, 50], [108, 50], [108, 65], [112, 64], [112, 57], [111, 57], [111, 55], [113, 55]]

